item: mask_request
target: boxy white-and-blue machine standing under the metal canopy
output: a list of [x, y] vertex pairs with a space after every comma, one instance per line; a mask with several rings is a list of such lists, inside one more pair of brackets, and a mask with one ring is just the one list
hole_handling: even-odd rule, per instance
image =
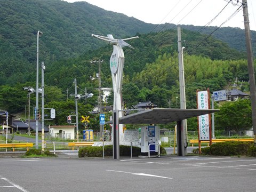
[[[141, 127], [141, 155], [148, 156], [158, 155], [158, 141], [160, 140], [159, 126], [142, 126]], [[150, 145], [151, 144], [151, 145]]]

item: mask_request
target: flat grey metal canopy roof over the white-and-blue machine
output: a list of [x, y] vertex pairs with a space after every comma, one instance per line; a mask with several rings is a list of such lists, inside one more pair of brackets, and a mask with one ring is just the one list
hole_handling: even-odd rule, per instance
[[[183, 119], [218, 112], [219, 109], [154, 108], [119, 118], [119, 124], [169, 124]], [[113, 124], [108, 121], [105, 124]]]

